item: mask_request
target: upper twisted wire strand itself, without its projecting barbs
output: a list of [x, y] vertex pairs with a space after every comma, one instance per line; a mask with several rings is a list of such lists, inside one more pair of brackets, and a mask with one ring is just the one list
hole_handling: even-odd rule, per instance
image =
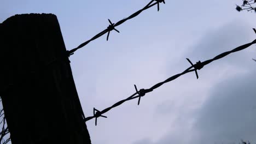
[[[114, 26], [114, 27], [117, 27], [117, 26], [121, 25], [122, 23], [124, 23], [125, 21], [130, 20], [130, 19], [132, 19], [133, 17], [136, 17], [136, 16], [139, 15], [142, 11], [151, 8], [151, 7], [153, 7], [153, 6], [156, 5], [156, 4], [159, 4], [158, 1], [156, 1], [155, 3], [153, 3], [154, 1], [156, 1], [156, 0], [150, 1], [144, 8], [142, 8], [141, 10], [136, 11], [135, 13], [133, 13], [132, 15], [130, 15], [129, 17], [126, 17], [125, 19], [120, 20], [120, 21], [118, 21], [118, 22], [115, 23], [115, 24], [113, 23], [113, 24], [114, 24], [113, 26]], [[152, 3], [153, 3], [153, 4], [152, 4]], [[67, 55], [68, 55], [68, 56], [73, 55], [73, 53], [74, 53], [75, 51], [77, 51], [78, 49], [81, 49], [81, 48], [84, 47], [85, 45], [89, 44], [92, 40], [95, 40], [95, 39], [97, 39], [97, 38], [100, 38], [102, 35], [104, 35], [104, 34], [106, 34], [106, 33], [108, 33], [108, 32], [110, 32], [110, 29], [108, 29], [108, 28], [104, 29], [102, 32], [96, 34], [94, 37], [92, 37], [91, 39], [89, 39], [89, 40], [85, 41], [84, 43], [80, 44], [78, 47], [76, 47], [76, 48], [74, 48], [74, 49], [72, 49], [72, 50], [70, 50], [70, 51], [67, 51], [67, 52], [68, 52]]]

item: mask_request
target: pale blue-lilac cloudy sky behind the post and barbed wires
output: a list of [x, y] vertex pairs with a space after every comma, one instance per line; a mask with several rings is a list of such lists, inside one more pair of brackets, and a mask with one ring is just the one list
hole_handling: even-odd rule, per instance
[[[149, 1], [1, 0], [0, 22], [25, 13], [52, 13], [71, 50], [143, 8]], [[251, 43], [256, 14], [235, 10], [242, 1], [165, 1], [116, 27], [70, 57], [86, 116], [181, 73], [192, 62]], [[232, 53], [127, 101], [86, 122], [91, 141], [124, 144], [256, 143], [256, 46]]]

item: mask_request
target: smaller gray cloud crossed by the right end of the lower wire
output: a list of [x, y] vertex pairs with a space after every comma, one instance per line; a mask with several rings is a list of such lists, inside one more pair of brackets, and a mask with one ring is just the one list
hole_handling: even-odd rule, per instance
[[[192, 47], [187, 55], [195, 60], [200, 59], [201, 61], [205, 61], [222, 52], [250, 43], [255, 38], [252, 27], [253, 26], [246, 22], [242, 22], [241, 20], [232, 20], [218, 29], [211, 29], [206, 32], [199, 43]], [[237, 61], [237, 59], [245, 59], [248, 56], [248, 51], [250, 50], [232, 53], [230, 56], [227, 56], [220, 61], [231, 65], [239, 64], [240, 66], [244, 66], [246, 63], [241, 63], [242, 61]], [[255, 52], [255, 50], [251, 51]]]

